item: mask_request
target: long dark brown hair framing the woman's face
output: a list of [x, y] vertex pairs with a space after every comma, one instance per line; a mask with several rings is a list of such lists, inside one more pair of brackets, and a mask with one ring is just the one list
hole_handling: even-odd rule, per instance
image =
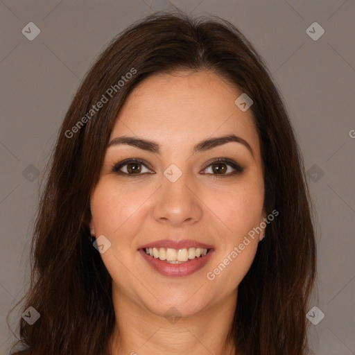
[[[125, 98], [151, 74], [179, 69], [211, 70], [252, 98], [265, 167], [264, 208], [267, 214], [279, 212], [239, 284], [228, 335], [248, 355], [309, 352], [306, 313], [316, 276], [314, 212], [282, 98], [261, 56], [229, 21], [166, 12], [149, 15], [115, 37], [67, 111], [40, 193], [31, 286], [21, 307], [33, 306], [40, 318], [32, 325], [20, 318], [20, 339], [12, 349], [21, 344], [35, 355], [107, 354], [115, 323], [112, 279], [90, 239], [90, 193]], [[94, 110], [99, 101], [105, 103]]]

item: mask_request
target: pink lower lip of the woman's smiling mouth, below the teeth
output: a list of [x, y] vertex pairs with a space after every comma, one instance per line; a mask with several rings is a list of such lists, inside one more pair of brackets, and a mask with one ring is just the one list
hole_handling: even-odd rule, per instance
[[148, 264], [157, 272], [164, 276], [189, 276], [203, 268], [211, 254], [213, 254], [214, 250], [209, 250], [209, 252], [205, 255], [205, 257], [198, 257], [192, 260], [187, 261], [186, 263], [166, 263], [165, 261], [160, 260], [159, 258], [150, 257], [149, 254], [146, 253], [145, 250], [138, 250], [142, 257], [146, 259]]

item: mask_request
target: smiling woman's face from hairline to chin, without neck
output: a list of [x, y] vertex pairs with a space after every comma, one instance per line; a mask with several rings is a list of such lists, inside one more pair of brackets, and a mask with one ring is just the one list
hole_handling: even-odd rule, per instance
[[[182, 316], [235, 303], [262, 235], [248, 233], [266, 216], [259, 137], [251, 110], [234, 103], [241, 94], [210, 71], [180, 71], [150, 76], [126, 99], [110, 142], [155, 143], [109, 144], [92, 191], [90, 230], [106, 245], [114, 299]], [[239, 142], [201, 144], [227, 135]]]

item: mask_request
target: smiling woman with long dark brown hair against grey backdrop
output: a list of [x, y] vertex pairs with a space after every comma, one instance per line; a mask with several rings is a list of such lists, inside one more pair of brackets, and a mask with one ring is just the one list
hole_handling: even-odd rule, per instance
[[302, 155], [230, 22], [156, 13], [126, 29], [83, 80], [49, 164], [26, 354], [309, 353]]

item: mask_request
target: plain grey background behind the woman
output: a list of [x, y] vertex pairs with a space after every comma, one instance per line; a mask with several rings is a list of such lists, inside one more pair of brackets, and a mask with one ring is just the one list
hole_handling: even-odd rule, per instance
[[[355, 354], [354, 0], [0, 0], [0, 353], [8, 354], [12, 340], [6, 314], [28, 286], [40, 178], [80, 80], [119, 31], [175, 6], [232, 21], [265, 58], [293, 121], [318, 213], [319, 303], [313, 297], [311, 306], [325, 316], [311, 324], [312, 348]], [[41, 31], [33, 41], [21, 33], [31, 21]], [[306, 33], [315, 21], [325, 31], [318, 40]], [[20, 316], [12, 313], [10, 322]]]

